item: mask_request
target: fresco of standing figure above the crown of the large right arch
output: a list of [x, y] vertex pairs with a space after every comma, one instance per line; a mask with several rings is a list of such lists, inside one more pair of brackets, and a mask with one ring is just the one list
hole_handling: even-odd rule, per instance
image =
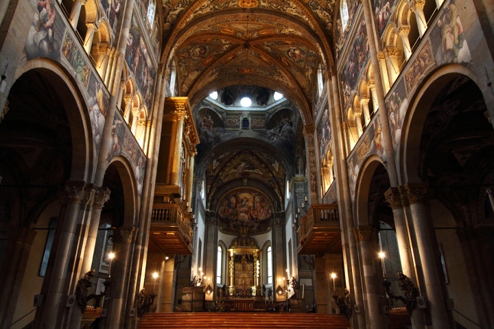
[[438, 64], [471, 62], [471, 53], [465, 40], [455, 0], [443, 5], [430, 38], [432, 45], [438, 47], [434, 51]]

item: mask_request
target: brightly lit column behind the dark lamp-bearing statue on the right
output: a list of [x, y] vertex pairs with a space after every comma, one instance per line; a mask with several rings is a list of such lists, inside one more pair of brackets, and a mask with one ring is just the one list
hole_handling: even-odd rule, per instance
[[[403, 204], [399, 189], [391, 187], [384, 193], [386, 202], [390, 204], [395, 219], [395, 230], [397, 234], [398, 249], [401, 260], [401, 269], [405, 276], [412, 280], [415, 287], [418, 287], [415, 276], [414, 261], [412, 258], [412, 249], [410, 248], [410, 236], [408, 234], [408, 225], [403, 211]], [[403, 200], [405, 201], [405, 200]], [[425, 328], [423, 310], [414, 308], [412, 311], [412, 327], [414, 329]]]

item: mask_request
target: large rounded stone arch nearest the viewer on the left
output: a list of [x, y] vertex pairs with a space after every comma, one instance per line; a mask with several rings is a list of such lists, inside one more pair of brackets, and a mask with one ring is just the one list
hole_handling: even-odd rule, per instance
[[[52, 85], [56, 84], [58, 97], [62, 102], [67, 119], [69, 120], [72, 138], [72, 167], [70, 180], [89, 181], [93, 177], [95, 146], [91, 134], [91, 119], [88, 106], [73, 77], [58, 63], [45, 58], [36, 58], [23, 64], [17, 69], [14, 82], [23, 74], [36, 72], [47, 77]], [[75, 106], [74, 106], [75, 103]]]

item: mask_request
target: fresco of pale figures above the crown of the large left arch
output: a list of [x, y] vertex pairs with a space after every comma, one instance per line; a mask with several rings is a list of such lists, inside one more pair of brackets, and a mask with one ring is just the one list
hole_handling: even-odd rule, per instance
[[24, 46], [27, 60], [37, 57], [60, 60], [60, 47], [65, 25], [56, 1], [32, 0], [30, 4], [36, 9]]

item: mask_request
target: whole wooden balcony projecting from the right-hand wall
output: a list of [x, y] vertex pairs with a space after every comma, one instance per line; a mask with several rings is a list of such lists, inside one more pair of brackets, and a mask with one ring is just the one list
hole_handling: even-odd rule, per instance
[[313, 204], [297, 230], [297, 254], [339, 252], [341, 246], [338, 204]]

